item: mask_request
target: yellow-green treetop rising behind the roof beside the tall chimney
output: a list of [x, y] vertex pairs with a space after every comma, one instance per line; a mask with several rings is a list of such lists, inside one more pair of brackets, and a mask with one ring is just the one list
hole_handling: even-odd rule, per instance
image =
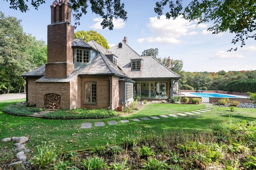
[[96, 41], [102, 47], [109, 49], [107, 40], [97, 31], [77, 31], [75, 33], [75, 39], [81, 38], [83, 41], [88, 42], [90, 40]]

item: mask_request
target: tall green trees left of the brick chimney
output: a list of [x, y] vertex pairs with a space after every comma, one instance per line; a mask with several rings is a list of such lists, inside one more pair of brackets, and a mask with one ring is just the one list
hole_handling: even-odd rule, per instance
[[20, 77], [47, 61], [47, 46], [23, 32], [21, 20], [0, 12], [0, 94], [24, 92]]

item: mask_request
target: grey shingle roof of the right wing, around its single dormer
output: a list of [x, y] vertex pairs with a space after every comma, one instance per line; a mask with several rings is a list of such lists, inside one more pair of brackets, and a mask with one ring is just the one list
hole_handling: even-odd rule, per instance
[[[132, 78], [180, 78], [172, 70], [157, 61], [154, 57], [141, 57], [128, 44], [122, 43], [122, 48], [118, 48], [118, 44], [110, 48], [114, 55], [118, 57], [118, 62], [123, 66], [124, 70]], [[142, 59], [142, 66], [138, 71], [131, 71], [131, 60]]]

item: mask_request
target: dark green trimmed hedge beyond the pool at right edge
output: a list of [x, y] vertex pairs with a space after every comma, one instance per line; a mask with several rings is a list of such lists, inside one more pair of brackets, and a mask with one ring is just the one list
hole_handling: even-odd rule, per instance
[[230, 92], [256, 92], [256, 80], [237, 80], [229, 82], [226, 90]]

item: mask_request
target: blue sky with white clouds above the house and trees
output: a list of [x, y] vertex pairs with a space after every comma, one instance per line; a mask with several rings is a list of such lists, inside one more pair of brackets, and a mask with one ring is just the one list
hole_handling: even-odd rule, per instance
[[[28, 12], [22, 13], [10, 9], [8, 2], [1, 1], [0, 11], [5, 16], [14, 16], [22, 20], [24, 32], [47, 43], [47, 25], [50, 24], [52, 2], [46, 1], [46, 4], [39, 6], [38, 10], [30, 7]], [[159, 57], [182, 60], [184, 71], [256, 70], [255, 40], [246, 41], [246, 45], [240, 48], [240, 44], [231, 44], [234, 38], [231, 33], [214, 35], [206, 31], [211, 23], [198, 25], [195, 21], [189, 22], [182, 18], [167, 20], [165, 16], [157, 19], [154, 0], [123, 0], [123, 2], [128, 12], [128, 19], [115, 20], [112, 31], [103, 30], [100, 26], [100, 17], [92, 14], [88, 8], [88, 13], [81, 18], [81, 24], [75, 32], [90, 29], [97, 31], [106, 38], [110, 47], [127, 37], [128, 45], [140, 55], [146, 49], [158, 48]], [[188, 3], [186, 0], [183, 2]], [[74, 18], [71, 23], [74, 25]], [[226, 52], [237, 46], [237, 51]]]

